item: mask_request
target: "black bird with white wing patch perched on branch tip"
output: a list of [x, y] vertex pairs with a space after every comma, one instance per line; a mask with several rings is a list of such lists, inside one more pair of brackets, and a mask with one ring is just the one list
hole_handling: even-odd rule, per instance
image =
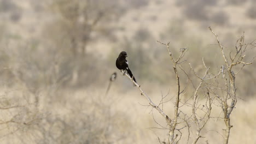
[[[118, 69], [120, 69], [121, 71], [124, 70], [124, 73], [125, 71], [127, 70], [128, 74], [133, 77], [133, 81], [136, 82], [135, 80], [135, 77], [132, 75], [132, 72], [131, 70], [129, 69], [128, 67], [128, 62], [126, 60], [126, 57], [127, 57], [127, 53], [125, 51], [122, 51], [120, 52], [118, 58], [117, 58], [117, 61], [115, 61], [115, 65], [117, 66]], [[136, 82], [137, 83], [137, 82]]]

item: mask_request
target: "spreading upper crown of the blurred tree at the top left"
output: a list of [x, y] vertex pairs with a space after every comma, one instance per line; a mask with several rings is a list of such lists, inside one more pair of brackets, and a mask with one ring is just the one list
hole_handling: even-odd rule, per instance
[[59, 37], [64, 36], [71, 43], [71, 51], [77, 56], [85, 54], [90, 40], [111, 28], [111, 22], [121, 14], [117, 6], [118, 2], [113, 1], [57, 0], [51, 2], [50, 8], [57, 16], [53, 25], [60, 27], [63, 34]]

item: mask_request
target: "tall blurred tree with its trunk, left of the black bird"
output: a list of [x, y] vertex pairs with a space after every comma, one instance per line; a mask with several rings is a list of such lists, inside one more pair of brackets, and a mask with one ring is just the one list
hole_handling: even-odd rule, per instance
[[100, 39], [113, 39], [117, 29], [113, 25], [124, 13], [121, 1], [56, 0], [49, 1], [47, 8], [53, 20], [45, 25], [40, 41], [52, 59], [48, 69], [51, 67], [56, 74], [53, 79], [72, 86], [96, 82], [100, 75], [97, 71], [105, 64], [100, 63], [99, 53], [86, 49], [92, 42], [100, 43]]

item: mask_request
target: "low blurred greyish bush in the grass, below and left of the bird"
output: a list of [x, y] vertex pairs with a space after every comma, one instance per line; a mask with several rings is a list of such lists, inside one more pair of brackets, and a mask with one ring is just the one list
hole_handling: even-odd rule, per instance
[[68, 117], [49, 115], [44, 118], [35, 127], [42, 136], [34, 142], [115, 143], [125, 141], [127, 136], [132, 135], [125, 113], [113, 110], [110, 101], [103, 97], [94, 95], [94, 98], [87, 98], [85, 101], [75, 101], [75, 105], [65, 112]]

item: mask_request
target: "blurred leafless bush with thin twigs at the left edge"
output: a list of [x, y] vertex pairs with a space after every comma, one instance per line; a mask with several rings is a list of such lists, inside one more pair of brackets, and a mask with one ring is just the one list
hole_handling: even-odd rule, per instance
[[[19, 81], [15, 82], [17, 86]], [[5, 82], [1, 82], [1, 85], [5, 85]], [[18, 138], [45, 118], [44, 113], [40, 112], [36, 105], [37, 96], [25, 87], [1, 88], [0, 138], [2, 141]]]

